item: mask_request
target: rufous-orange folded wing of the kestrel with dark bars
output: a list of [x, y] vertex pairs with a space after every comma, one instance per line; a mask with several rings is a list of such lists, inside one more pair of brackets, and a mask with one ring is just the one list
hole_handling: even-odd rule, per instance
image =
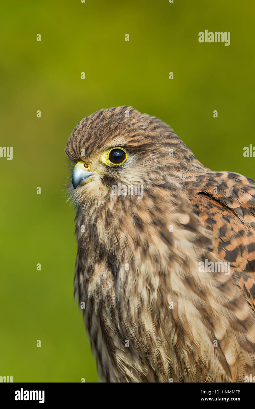
[[232, 172], [206, 172], [185, 180], [193, 212], [212, 234], [212, 251], [230, 263], [255, 309], [255, 182]]

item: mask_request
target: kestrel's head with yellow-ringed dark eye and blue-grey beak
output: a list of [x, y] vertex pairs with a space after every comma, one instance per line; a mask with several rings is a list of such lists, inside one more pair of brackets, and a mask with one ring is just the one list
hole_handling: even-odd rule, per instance
[[75, 201], [112, 194], [119, 184], [164, 184], [199, 163], [173, 130], [156, 117], [122, 106], [99, 110], [82, 119], [66, 145], [72, 162], [72, 196]]

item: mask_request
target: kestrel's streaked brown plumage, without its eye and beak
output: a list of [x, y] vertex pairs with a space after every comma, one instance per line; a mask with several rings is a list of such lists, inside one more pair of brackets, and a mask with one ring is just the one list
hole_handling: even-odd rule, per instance
[[[103, 163], [115, 147], [126, 161]], [[255, 375], [255, 182], [210, 171], [167, 124], [127, 106], [81, 120], [66, 153], [73, 166], [96, 172], [70, 192], [74, 291], [99, 378]], [[142, 185], [143, 198], [113, 195], [118, 183]], [[203, 263], [214, 267], [201, 272]]]

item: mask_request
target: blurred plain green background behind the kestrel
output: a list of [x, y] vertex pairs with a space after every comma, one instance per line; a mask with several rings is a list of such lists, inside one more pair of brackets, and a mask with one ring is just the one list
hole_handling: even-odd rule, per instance
[[[243, 157], [255, 146], [254, 26], [252, 0], [1, 3], [0, 146], [13, 146], [12, 161], [0, 158], [1, 376], [98, 381], [73, 301], [64, 186], [81, 118], [132, 105], [170, 124], [205, 166], [255, 179], [255, 159]], [[205, 29], [230, 31], [230, 46], [199, 43]]]

